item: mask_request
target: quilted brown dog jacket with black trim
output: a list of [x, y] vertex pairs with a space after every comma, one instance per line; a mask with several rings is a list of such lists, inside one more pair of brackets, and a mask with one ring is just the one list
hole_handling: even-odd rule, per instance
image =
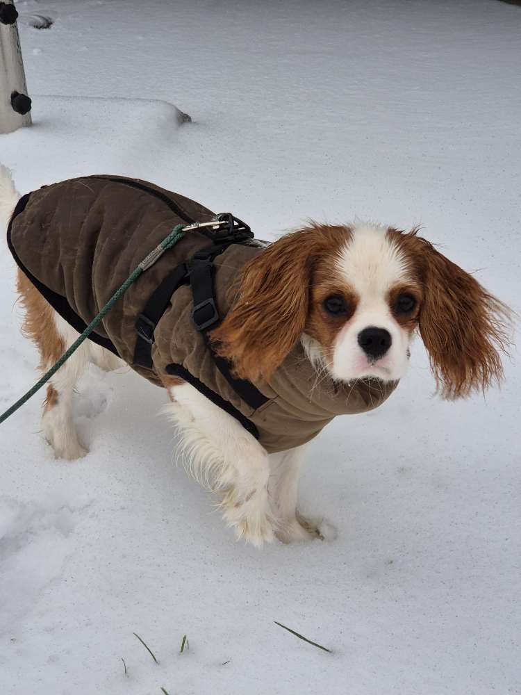
[[[138, 179], [83, 177], [22, 197], [8, 228], [8, 244], [19, 268], [81, 332], [176, 224], [207, 222], [213, 216], [193, 200]], [[268, 452], [306, 443], [334, 416], [365, 412], [388, 398], [395, 383], [358, 381], [352, 386], [317, 379], [297, 344], [268, 382], [251, 384], [256, 398], [247, 402], [217, 367], [195, 328], [192, 291], [186, 284], [176, 289], [156, 326], [151, 368], [136, 364], [135, 321], [150, 295], [173, 268], [211, 243], [198, 231], [187, 232], [113, 306], [92, 340], [158, 386], [165, 375], [183, 377], [237, 418]], [[231, 283], [262, 252], [262, 247], [233, 243], [215, 258], [221, 318], [230, 309]]]

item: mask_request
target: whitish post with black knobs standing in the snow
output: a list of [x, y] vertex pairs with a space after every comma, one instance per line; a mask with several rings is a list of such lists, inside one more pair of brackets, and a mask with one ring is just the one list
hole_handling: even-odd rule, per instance
[[31, 125], [17, 17], [13, 0], [0, 0], [0, 133]]

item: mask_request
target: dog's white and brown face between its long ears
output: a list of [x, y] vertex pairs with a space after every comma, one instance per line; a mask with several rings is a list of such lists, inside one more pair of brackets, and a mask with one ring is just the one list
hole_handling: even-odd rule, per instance
[[334, 379], [400, 379], [421, 285], [385, 229], [364, 225], [345, 236], [334, 256], [315, 263], [304, 346]]

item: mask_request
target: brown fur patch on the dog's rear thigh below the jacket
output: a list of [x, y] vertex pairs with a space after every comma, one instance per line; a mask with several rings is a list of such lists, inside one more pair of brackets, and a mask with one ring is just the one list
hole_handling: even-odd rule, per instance
[[63, 352], [65, 343], [60, 338], [53, 319], [53, 308], [32, 282], [18, 270], [17, 291], [25, 309], [22, 334], [30, 338], [40, 351], [40, 370], [49, 368]]

